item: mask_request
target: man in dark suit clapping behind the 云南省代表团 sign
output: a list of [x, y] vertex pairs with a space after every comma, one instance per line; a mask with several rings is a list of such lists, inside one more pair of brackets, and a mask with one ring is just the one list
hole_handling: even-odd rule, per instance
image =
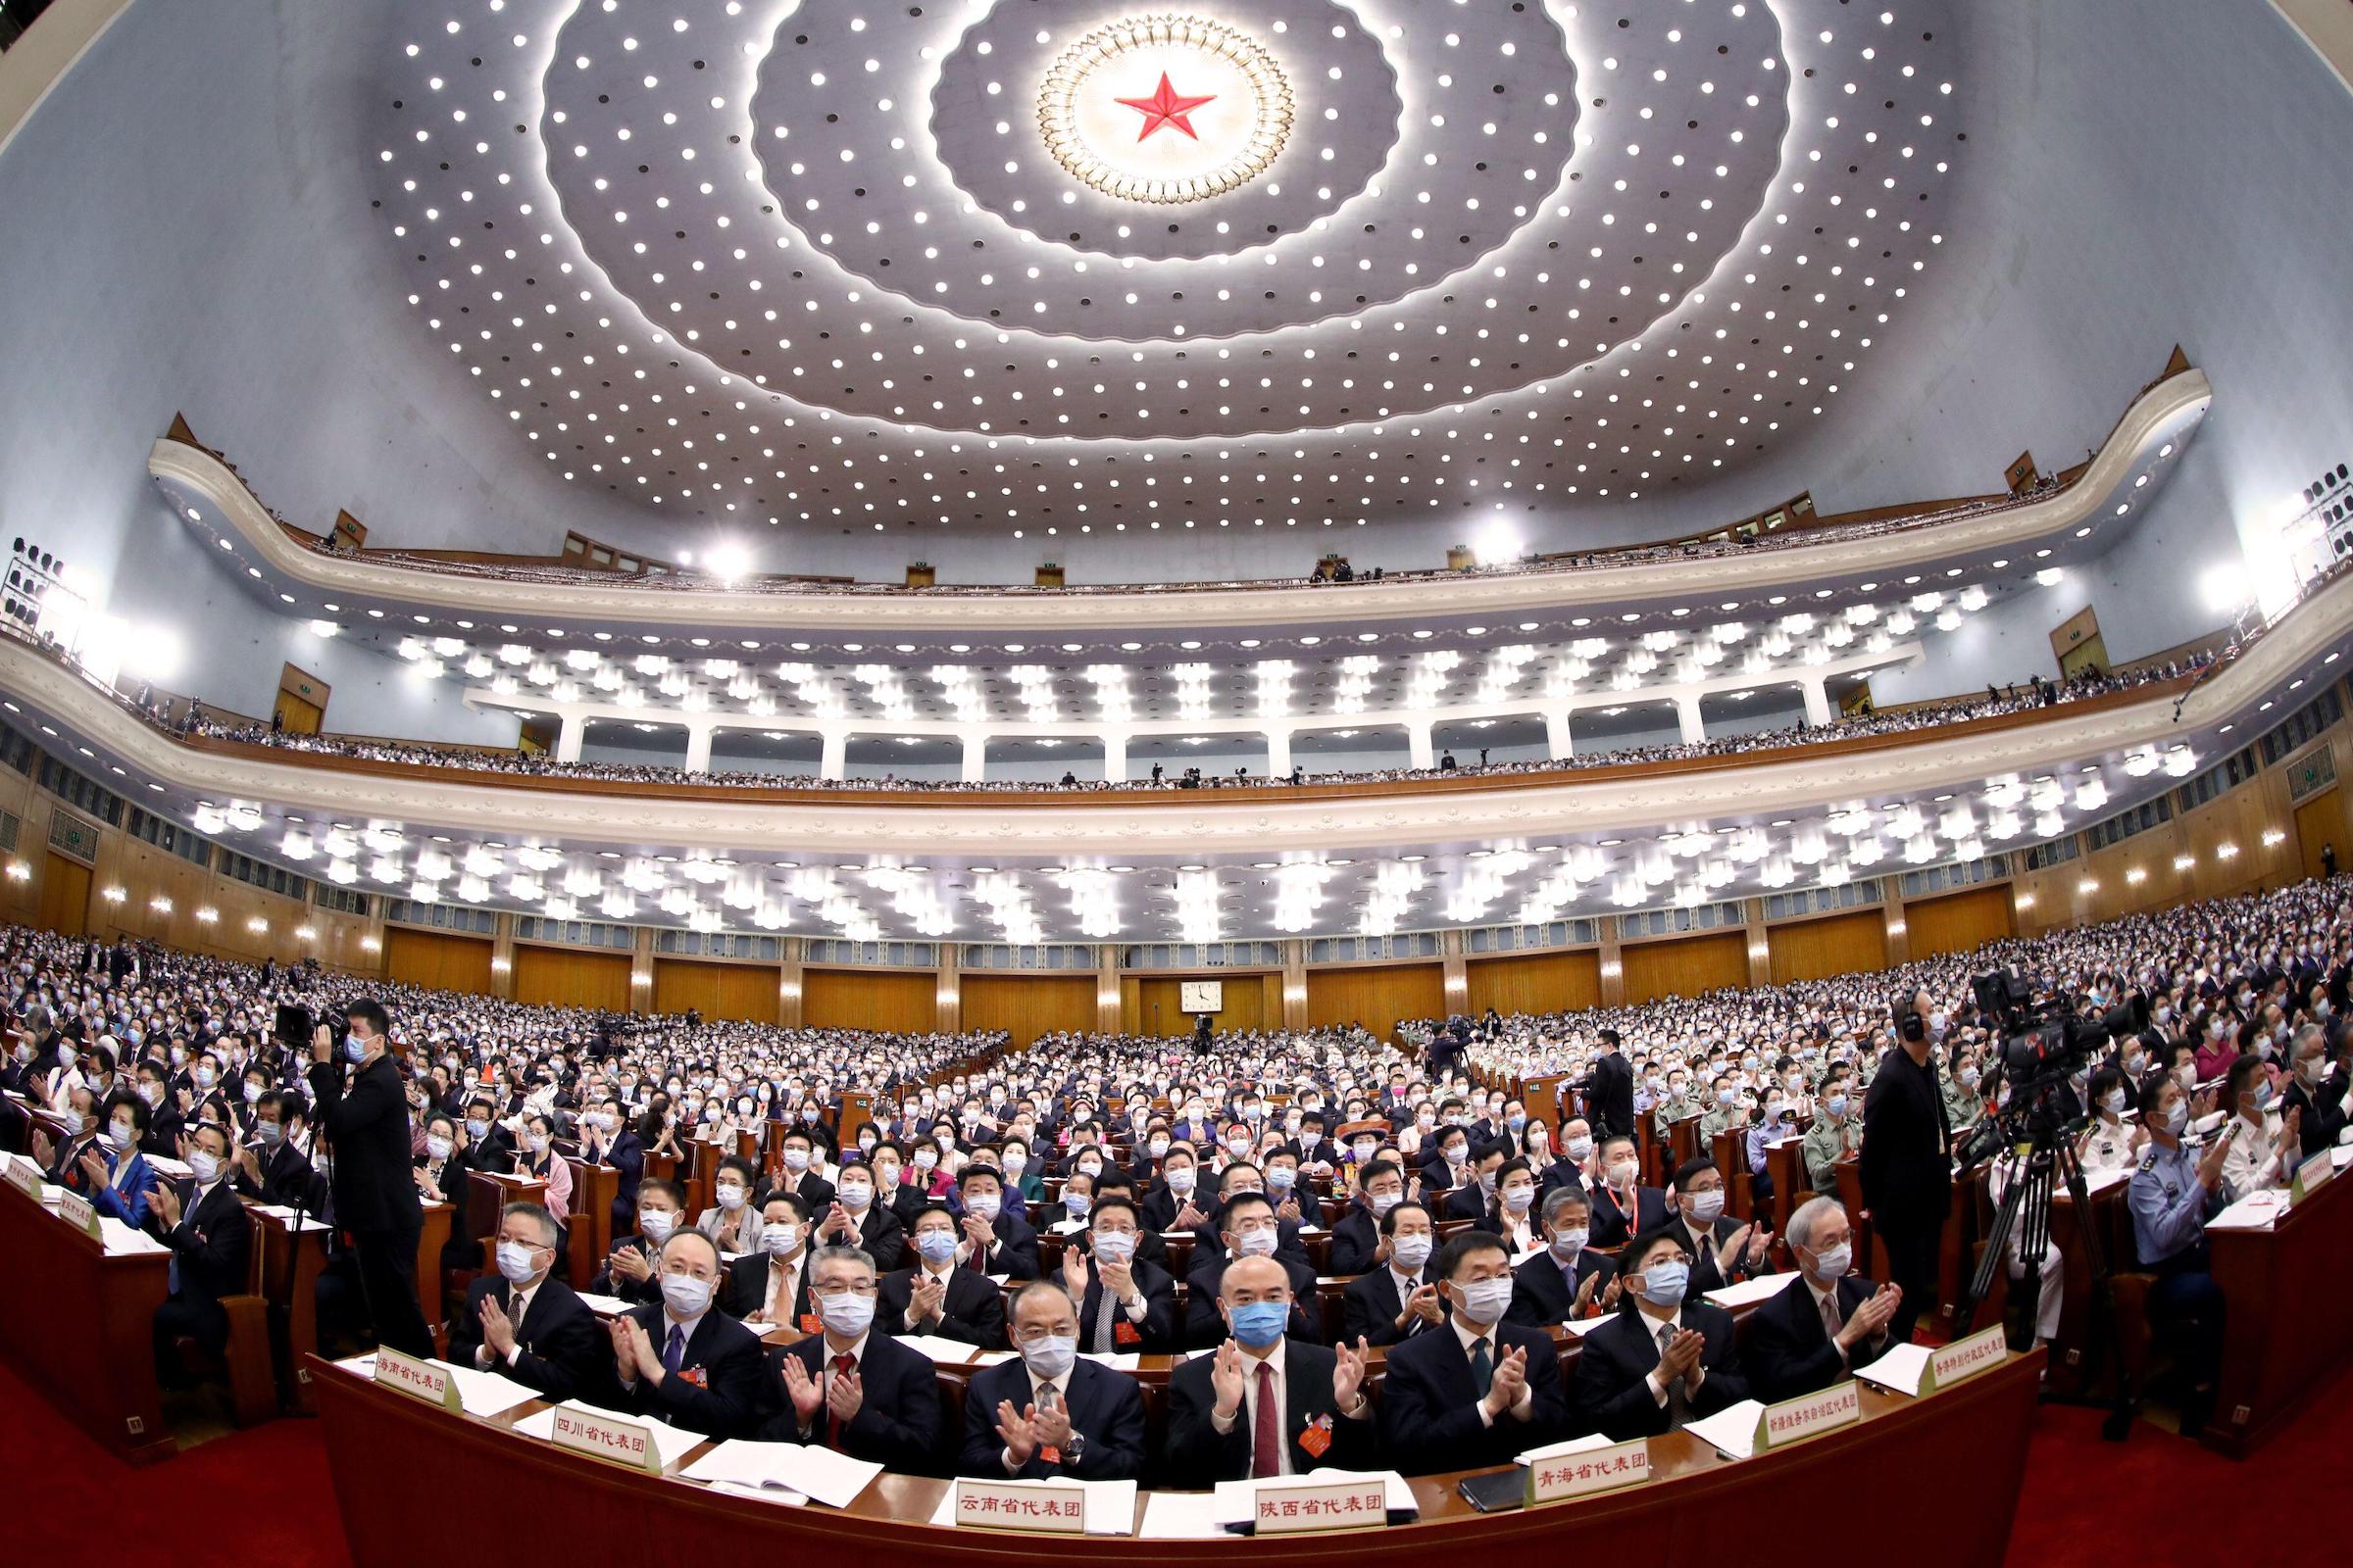
[[1014, 1291], [1014, 1361], [965, 1392], [960, 1476], [1132, 1481], [1144, 1472], [1144, 1389], [1078, 1356], [1078, 1309], [1049, 1279]]

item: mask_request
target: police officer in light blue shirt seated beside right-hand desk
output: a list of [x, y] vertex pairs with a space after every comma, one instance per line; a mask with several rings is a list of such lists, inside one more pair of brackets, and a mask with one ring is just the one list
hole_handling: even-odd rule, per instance
[[2214, 1410], [2214, 1378], [2221, 1371], [2224, 1298], [2207, 1272], [2205, 1222], [2224, 1208], [2221, 1161], [2228, 1138], [2202, 1154], [2181, 1143], [2191, 1100], [2174, 1077], [2160, 1074], [2141, 1091], [2141, 1126], [2148, 1150], [2132, 1171], [2132, 1244], [2141, 1267], [2158, 1276], [2148, 1291], [2148, 1321], [2181, 1340], [2188, 1392], [2181, 1396], [2181, 1434], [2195, 1436]]

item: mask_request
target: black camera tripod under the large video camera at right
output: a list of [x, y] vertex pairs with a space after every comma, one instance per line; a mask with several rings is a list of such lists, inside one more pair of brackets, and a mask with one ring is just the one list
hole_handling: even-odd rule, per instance
[[2085, 1342], [2082, 1366], [2075, 1368], [2075, 1387], [2080, 1392], [2047, 1392], [2045, 1399], [2106, 1410], [2108, 1420], [2101, 1422], [2099, 1434], [2111, 1443], [2122, 1443], [2132, 1434], [2139, 1392], [2132, 1387], [2132, 1373], [2122, 1356], [2115, 1361], [2115, 1394], [2101, 1396], [2097, 1392], [2101, 1385], [2101, 1359], [2115, 1342], [2118, 1324], [2115, 1286], [2106, 1248], [2099, 1244], [2099, 1229], [2089, 1222], [2092, 1194], [2082, 1182], [2082, 1161], [2075, 1157], [2075, 1145], [2066, 1138], [2057, 1117], [2031, 1114], [2021, 1131], [2026, 1138], [2005, 1145], [1993, 1157], [1993, 1168], [2002, 1178], [2002, 1201], [1993, 1211], [1993, 1227], [1986, 1232], [1986, 1251], [1977, 1260], [1977, 1272], [1962, 1286], [1960, 1302], [1953, 1307], [1953, 1338], [1962, 1338], [1977, 1328], [1977, 1309], [1993, 1291], [1993, 1272], [2009, 1265], [2009, 1248], [2014, 1244], [2021, 1276], [2012, 1281], [2005, 1328], [2012, 1347], [2033, 1345], [2033, 1326], [2042, 1300], [2042, 1265], [2049, 1258], [2052, 1194], [2059, 1182], [2066, 1182], [2075, 1215], [2085, 1220], [2078, 1225], [2075, 1246], [2085, 1251], [2085, 1262], [2092, 1269], [2092, 1333]]

